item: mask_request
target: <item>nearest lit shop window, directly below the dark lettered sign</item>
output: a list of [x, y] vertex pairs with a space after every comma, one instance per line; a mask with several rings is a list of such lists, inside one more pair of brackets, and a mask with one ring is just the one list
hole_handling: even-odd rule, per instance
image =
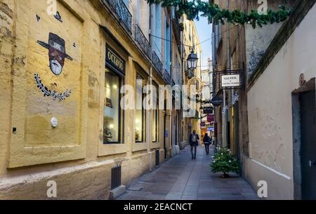
[[123, 111], [120, 106], [123, 79], [118, 74], [106, 70], [105, 72], [105, 100], [103, 121], [103, 142], [105, 144], [123, 143]]

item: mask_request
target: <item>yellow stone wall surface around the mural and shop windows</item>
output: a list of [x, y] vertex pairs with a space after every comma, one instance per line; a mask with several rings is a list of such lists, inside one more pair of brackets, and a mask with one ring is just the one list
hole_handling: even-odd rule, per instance
[[[105, 45], [126, 60], [125, 83], [135, 86], [136, 65], [149, 81], [164, 82], [100, 1], [58, 1], [62, 22], [46, 13], [47, 6], [46, 0], [0, 1], [0, 199], [46, 199], [48, 180], [57, 182], [58, 199], [107, 199], [111, 168], [121, 165], [122, 184], [129, 185], [154, 168], [155, 149], [164, 161], [164, 112], [159, 142], [151, 142], [147, 116], [147, 142], [136, 144], [133, 110], [127, 110], [125, 143], [103, 145]], [[50, 32], [65, 40], [72, 58], [58, 76], [49, 67], [48, 49], [37, 42], [47, 44]], [[51, 91], [72, 90], [70, 97], [60, 102], [44, 97], [34, 74]], [[51, 126], [53, 117], [57, 128]]]

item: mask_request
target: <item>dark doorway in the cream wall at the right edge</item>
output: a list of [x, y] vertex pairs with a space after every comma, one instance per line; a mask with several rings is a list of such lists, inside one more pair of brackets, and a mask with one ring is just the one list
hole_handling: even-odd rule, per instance
[[315, 78], [292, 92], [294, 199], [316, 199]]

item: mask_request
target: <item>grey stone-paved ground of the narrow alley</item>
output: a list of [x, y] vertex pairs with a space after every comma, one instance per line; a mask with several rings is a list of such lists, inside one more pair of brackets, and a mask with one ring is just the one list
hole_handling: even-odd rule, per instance
[[[213, 147], [210, 148], [213, 154]], [[134, 181], [119, 200], [256, 200], [256, 192], [243, 178], [220, 178], [211, 173], [211, 155], [198, 147], [192, 160], [190, 147], [159, 168]]]

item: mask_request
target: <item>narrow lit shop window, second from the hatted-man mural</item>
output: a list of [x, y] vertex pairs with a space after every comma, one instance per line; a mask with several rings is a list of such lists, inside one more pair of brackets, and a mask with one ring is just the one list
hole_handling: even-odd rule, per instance
[[137, 75], [136, 78], [136, 115], [135, 115], [135, 140], [136, 142], [145, 142], [146, 133], [146, 110], [143, 106], [145, 99], [144, 87], [145, 79]]

